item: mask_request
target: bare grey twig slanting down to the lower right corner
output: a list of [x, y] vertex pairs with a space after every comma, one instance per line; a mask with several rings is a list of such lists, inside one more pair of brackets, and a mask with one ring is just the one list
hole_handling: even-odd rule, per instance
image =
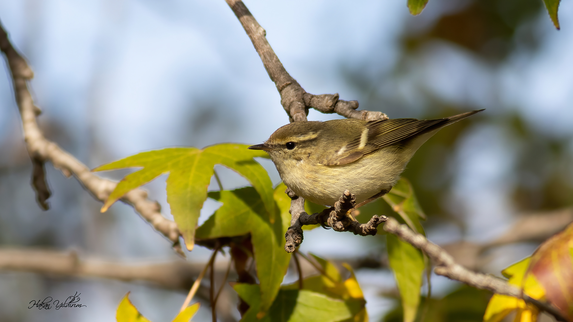
[[528, 303], [536, 305], [543, 311], [551, 313], [556, 317], [556, 319], [563, 319], [559, 312], [556, 311], [556, 309], [551, 305], [524, 295], [519, 288], [509, 284], [507, 281], [494, 276], [472, 272], [460, 264], [457, 264], [453, 257], [450, 256], [450, 254], [448, 254], [444, 249], [434, 244], [433, 242], [428, 241], [424, 235], [414, 233], [414, 231], [412, 231], [407, 225], [400, 225], [394, 218], [389, 218], [386, 221], [384, 224], [384, 230], [388, 233], [397, 235], [415, 248], [421, 249], [424, 253], [426, 253], [427, 256], [434, 261], [434, 272], [438, 275], [448, 277], [452, 280], [460, 281], [462, 283], [473, 286], [474, 288], [486, 289], [497, 294], [503, 294], [517, 297], [518, 299], [523, 299]]

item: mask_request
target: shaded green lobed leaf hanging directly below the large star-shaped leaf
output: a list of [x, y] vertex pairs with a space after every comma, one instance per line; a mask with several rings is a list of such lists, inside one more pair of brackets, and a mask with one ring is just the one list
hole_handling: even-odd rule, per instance
[[[274, 193], [284, 195], [284, 189], [278, 187]], [[264, 203], [253, 187], [217, 191], [209, 193], [209, 197], [222, 202], [223, 206], [198, 227], [195, 237], [211, 239], [251, 234], [257, 276], [261, 284], [260, 309], [265, 312], [277, 295], [291, 259], [291, 254], [284, 250], [284, 234], [291, 220], [288, 210], [284, 209], [285, 202], [280, 202], [281, 220], [271, 223]]]

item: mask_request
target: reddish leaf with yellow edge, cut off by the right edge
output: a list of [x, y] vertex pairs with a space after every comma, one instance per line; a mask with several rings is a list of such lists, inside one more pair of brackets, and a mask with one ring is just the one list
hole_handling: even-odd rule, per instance
[[535, 277], [545, 298], [573, 321], [573, 223], [543, 242], [531, 256], [526, 278]]

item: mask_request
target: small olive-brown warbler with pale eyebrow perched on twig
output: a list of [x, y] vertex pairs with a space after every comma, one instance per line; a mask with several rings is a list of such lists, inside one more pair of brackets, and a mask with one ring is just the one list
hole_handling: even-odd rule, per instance
[[249, 149], [268, 152], [296, 195], [333, 206], [350, 190], [357, 208], [387, 194], [414, 152], [439, 129], [481, 111], [435, 120], [299, 121]]

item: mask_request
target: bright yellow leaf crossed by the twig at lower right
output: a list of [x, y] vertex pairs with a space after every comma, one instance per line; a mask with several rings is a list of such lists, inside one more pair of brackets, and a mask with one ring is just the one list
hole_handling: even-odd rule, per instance
[[[527, 257], [504, 269], [501, 273], [509, 278], [509, 284], [523, 289], [523, 292], [533, 299], [542, 300], [545, 292], [535, 277], [525, 278], [530, 260], [531, 258]], [[516, 314], [514, 321], [521, 322], [535, 322], [539, 315], [539, 309], [533, 304], [525, 303], [517, 297], [493, 294], [485, 309], [484, 322], [499, 322], [513, 312]]]

